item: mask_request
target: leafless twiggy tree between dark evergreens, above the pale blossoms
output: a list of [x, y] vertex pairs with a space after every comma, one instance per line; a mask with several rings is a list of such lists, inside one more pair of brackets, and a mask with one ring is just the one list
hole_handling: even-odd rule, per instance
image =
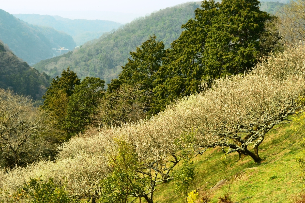
[[145, 119], [150, 97], [141, 84], [122, 85], [100, 101], [95, 124], [120, 126]]

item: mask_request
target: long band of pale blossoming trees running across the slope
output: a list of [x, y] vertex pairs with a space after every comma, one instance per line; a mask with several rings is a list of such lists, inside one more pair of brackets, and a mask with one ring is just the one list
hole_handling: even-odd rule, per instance
[[66, 184], [71, 194], [89, 197], [111, 172], [117, 140], [134, 146], [143, 169], [158, 173], [162, 181], [170, 177], [175, 164], [168, 161], [178, 157], [177, 141], [188, 132], [196, 133], [199, 153], [222, 146], [258, 161], [257, 149], [265, 133], [299, 108], [295, 100], [305, 93], [304, 51], [305, 47], [287, 49], [262, 58], [245, 75], [217, 79], [209, 89], [203, 84], [201, 93], [176, 101], [149, 121], [91, 129], [75, 136], [61, 146], [55, 162], [1, 173], [0, 187], [13, 192], [29, 177], [53, 177]]

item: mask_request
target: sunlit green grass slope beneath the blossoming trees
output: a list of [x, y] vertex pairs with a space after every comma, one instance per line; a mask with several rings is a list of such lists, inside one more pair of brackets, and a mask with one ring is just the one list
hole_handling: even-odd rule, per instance
[[[220, 196], [228, 192], [228, 184], [210, 190], [218, 181], [231, 177], [231, 197], [238, 203], [286, 203], [301, 191], [300, 167], [296, 158], [302, 155], [298, 142], [303, 140], [295, 134], [296, 125], [277, 125], [269, 131], [260, 145], [263, 161], [254, 163], [249, 156], [239, 160], [237, 153], [227, 156], [225, 168], [221, 148], [210, 149], [194, 159], [197, 180], [194, 188], [208, 191], [210, 202], [216, 203]], [[143, 200], [142, 200], [143, 202]], [[145, 201], [144, 201], [145, 202]], [[185, 199], [175, 191], [174, 181], [156, 187], [154, 202], [183, 203]]]

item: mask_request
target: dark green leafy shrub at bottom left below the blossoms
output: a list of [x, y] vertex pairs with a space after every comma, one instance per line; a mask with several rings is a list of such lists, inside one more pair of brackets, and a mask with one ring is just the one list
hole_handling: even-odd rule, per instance
[[[70, 197], [64, 186], [55, 184], [53, 178], [48, 181], [31, 178], [20, 190], [18, 198], [27, 198], [30, 203], [77, 203], [77, 199]], [[18, 196], [18, 195], [16, 195]], [[20, 197], [21, 196], [21, 197]]]

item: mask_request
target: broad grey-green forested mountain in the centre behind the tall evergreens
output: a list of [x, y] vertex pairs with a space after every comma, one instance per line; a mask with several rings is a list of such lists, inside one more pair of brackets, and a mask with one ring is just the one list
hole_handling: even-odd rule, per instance
[[47, 74], [52, 73], [51, 77], [54, 77], [70, 66], [81, 78], [95, 76], [109, 83], [120, 73], [121, 66], [127, 62], [129, 52], [146, 41], [149, 35], [156, 34], [157, 40], [170, 47], [170, 43], [182, 32], [181, 25], [195, 17], [194, 11], [199, 6], [199, 3], [185, 3], [135, 19], [113, 33], [87, 42], [66, 57], [41, 61], [34, 67]]

